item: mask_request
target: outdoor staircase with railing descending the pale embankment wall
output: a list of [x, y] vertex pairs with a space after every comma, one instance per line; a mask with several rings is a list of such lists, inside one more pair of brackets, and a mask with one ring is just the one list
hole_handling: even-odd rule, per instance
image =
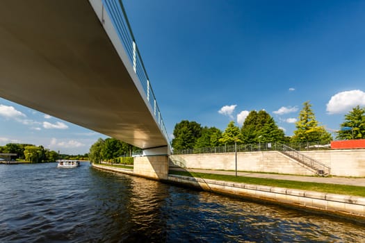
[[314, 160], [314, 158], [310, 158], [309, 156], [305, 156], [304, 154], [292, 149], [290, 146], [286, 146], [285, 144], [282, 145], [281, 153], [284, 153], [286, 156], [293, 158], [294, 160], [300, 162], [300, 164], [305, 165], [317, 171], [318, 176], [330, 176], [331, 168], [327, 165], [319, 162], [318, 160]]

